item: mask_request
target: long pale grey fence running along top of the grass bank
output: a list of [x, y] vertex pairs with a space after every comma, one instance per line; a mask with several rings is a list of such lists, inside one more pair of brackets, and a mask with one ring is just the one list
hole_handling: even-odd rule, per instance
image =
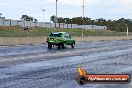
[[[0, 19], [0, 26], [20, 26], [20, 27], [28, 26], [28, 27], [55, 28], [55, 23]], [[56, 27], [57, 28], [81, 28], [81, 29], [107, 30], [107, 26], [77, 25], [77, 24], [65, 24], [65, 23], [57, 23]]]

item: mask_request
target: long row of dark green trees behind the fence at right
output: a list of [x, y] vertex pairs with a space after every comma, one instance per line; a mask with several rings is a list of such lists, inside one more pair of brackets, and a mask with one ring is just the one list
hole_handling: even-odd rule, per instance
[[[51, 16], [51, 21], [54, 23], [56, 16]], [[98, 25], [98, 26], [107, 26], [108, 30], [126, 32], [126, 24], [129, 27], [129, 31], [132, 32], [132, 19], [118, 19], [118, 20], [106, 20], [103, 18], [92, 20], [89, 17], [73, 17], [73, 18], [57, 18], [57, 23], [66, 23], [66, 24], [78, 24], [78, 25]]]

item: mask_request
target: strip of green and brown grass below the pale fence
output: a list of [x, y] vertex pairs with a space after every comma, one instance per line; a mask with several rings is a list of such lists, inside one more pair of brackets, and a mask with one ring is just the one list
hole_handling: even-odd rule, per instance
[[[81, 36], [82, 29], [54, 29], [54, 28], [30, 28], [23, 30], [20, 27], [0, 27], [0, 37], [36, 37], [47, 36], [51, 32], [68, 32], [72, 36]], [[84, 30], [84, 36], [126, 36], [126, 32], [113, 32], [104, 30]], [[129, 33], [132, 35], [132, 33]]]

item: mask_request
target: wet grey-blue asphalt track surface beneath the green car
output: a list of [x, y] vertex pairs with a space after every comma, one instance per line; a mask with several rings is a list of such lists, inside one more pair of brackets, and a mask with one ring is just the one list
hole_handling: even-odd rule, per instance
[[[132, 88], [129, 84], [77, 84], [75, 72], [82, 65], [89, 74], [132, 75], [132, 41], [79, 42], [75, 49], [39, 51], [0, 57], [0, 88]], [[14, 52], [20, 48], [9, 47]], [[46, 45], [44, 46], [46, 47]], [[18, 49], [19, 48], [19, 49]], [[0, 50], [7, 50], [4, 47]], [[0, 51], [2, 52], [2, 51]]]

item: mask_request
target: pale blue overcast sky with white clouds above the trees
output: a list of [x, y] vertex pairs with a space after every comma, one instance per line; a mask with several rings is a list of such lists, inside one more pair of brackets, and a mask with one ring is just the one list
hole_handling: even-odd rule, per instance
[[[84, 0], [85, 16], [92, 19], [132, 19], [132, 0]], [[29, 15], [49, 22], [55, 15], [56, 0], [0, 0], [0, 13], [7, 19]], [[58, 0], [58, 17], [82, 16], [83, 0]], [[45, 14], [43, 14], [45, 9]]]

